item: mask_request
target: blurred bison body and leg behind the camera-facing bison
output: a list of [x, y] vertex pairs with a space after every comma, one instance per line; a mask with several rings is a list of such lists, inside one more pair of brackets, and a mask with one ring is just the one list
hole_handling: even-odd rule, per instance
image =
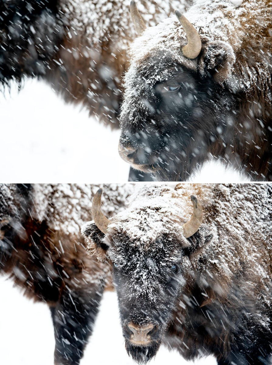
[[[111, 289], [109, 260], [88, 255], [80, 227], [92, 217], [97, 185], [0, 185], [0, 273], [50, 306], [55, 365], [79, 364], [100, 299]], [[104, 185], [108, 216], [124, 208], [133, 185]]]

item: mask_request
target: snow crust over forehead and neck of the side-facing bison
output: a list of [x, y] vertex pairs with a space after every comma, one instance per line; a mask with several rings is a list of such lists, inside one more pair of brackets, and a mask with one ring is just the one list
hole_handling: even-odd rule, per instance
[[[240, 6], [228, 0], [199, 0], [189, 7], [184, 16], [197, 29], [202, 43], [225, 42], [226, 51], [234, 61], [244, 39], [246, 37], [255, 39], [258, 31], [261, 32], [271, 24], [268, 6], [265, 2], [257, 0], [244, 0]], [[124, 77], [125, 92], [121, 120], [128, 118], [131, 123], [139, 122], [133, 112], [135, 105], [137, 107], [140, 105], [148, 112], [148, 105], [141, 101], [141, 97], [145, 92], [154, 96], [152, 88], [156, 82], [163, 82], [173, 77], [175, 69], [170, 69], [170, 65], [176, 63], [187, 69], [197, 69], [196, 60], [191, 61], [182, 55], [181, 49], [186, 43], [186, 35], [174, 15], [162, 20], [155, 27], [147, 28], [141, 37], [135, 39], [128, 50], [130, 67]], [[268, 56], [269, 54], [265, 57]], [[256, 69], [246, 66], [242, 74], [236, 75], [233, 64], [225, 80], [226, 84], [235, 89], [250, 89], [250, 86], [257, 83], [260, 75], [267, 74], [269, 62], [255, 67]], [[141, 117], [141, 122], [143, 119], [144, 117]]]

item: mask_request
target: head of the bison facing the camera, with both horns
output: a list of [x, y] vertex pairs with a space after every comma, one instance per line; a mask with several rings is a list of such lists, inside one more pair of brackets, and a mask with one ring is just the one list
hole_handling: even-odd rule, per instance
[[110, 220], [101, 211], [99, 189], [92, 207], [94, 222], [82, 228], [89, 248], [99, 255], [106, 251], [113, 262], [125, 346], [139, 363], [158, 351], [186, 284], [190, 255], [211, 238], [195, 196], [189, 218], [169, 188], [158, 198], [153, 196], [156, 187], [147, 189]]

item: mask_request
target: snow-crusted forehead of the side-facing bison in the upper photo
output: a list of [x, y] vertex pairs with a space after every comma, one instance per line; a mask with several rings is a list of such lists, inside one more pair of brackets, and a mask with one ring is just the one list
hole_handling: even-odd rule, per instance
[[[158, 34], [154, 40], [155, 30]], [[150, 106], [146, 98], [143, 100], [143, 95], [155, 100], [154, 85], [174, 76], [176, 72], [173, 68], [174, 64], [196, 70], [196, 61], [191, 61], [182, 55], [181, 46], [185, 43], [184, 32], [173, 17], [156, 27], [147, 28], [143, 36], [136, 38], [129, 50], [131, 66], [124, 79], [125, 93], [121, 107], [121, 120], [128, 118], [129, 121], [137, 123], [135, 110], [139, 107], [142, 111], [141, 121], [144, 111], [148, 117]]]

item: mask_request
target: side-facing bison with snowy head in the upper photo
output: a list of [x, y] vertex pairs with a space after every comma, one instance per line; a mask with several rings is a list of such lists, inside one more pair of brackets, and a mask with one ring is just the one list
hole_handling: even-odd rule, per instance
[[201, 0], [129, 49], [119, 152], [158, 180], [186, 181], [208, 159], [272, 181], [272, 2]]

